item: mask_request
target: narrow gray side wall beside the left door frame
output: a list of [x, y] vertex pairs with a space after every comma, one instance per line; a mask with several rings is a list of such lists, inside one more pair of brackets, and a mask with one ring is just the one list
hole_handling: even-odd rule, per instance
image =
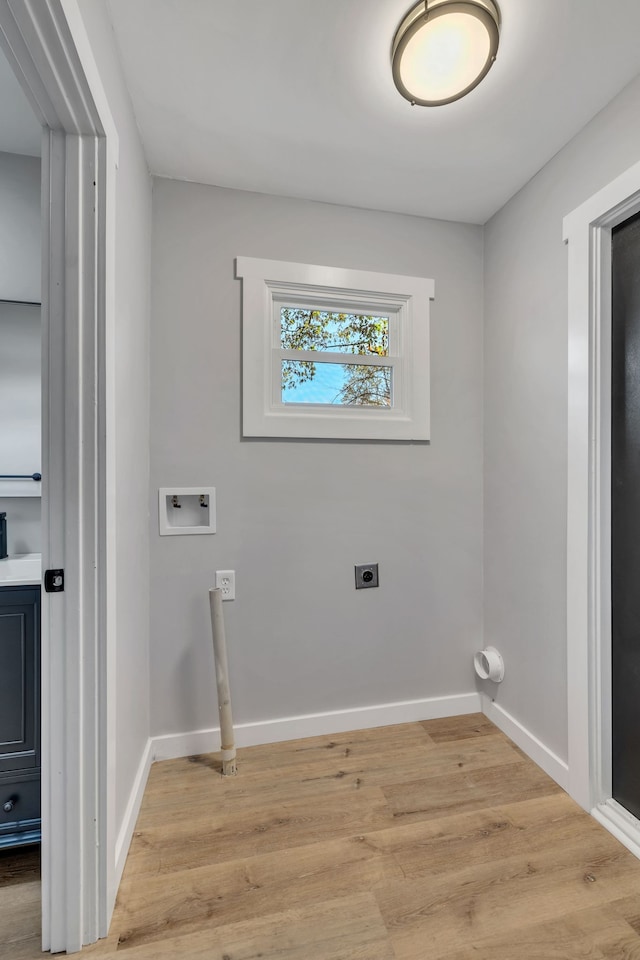
[[149, 735], [151, 180], [104, 0], [80, 10], [120, 137], [116, 196], [116, 817]]

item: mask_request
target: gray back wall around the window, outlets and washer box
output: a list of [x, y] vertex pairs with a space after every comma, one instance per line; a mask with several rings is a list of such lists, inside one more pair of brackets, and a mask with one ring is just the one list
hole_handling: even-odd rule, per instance
[[[431, 445], [241, 440], [237, 255], [434, 278]], [[152, 734], [216, 723], [220, 568], [238, 722], [472, 690], [482, 229], [155, 180], [152, 265]], [[216, 486], [216, 535], [159, 537], [172, 484]]]

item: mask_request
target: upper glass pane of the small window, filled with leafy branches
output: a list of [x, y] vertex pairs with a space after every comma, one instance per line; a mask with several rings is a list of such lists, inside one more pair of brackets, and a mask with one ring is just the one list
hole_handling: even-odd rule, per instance
[[280, 346], [283, 350], [323, 350], [386, 357], [389, 354], [389, 318], [281, 307]]

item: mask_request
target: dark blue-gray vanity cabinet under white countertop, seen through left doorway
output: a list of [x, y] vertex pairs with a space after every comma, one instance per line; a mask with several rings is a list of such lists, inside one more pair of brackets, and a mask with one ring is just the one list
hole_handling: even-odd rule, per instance
[[40, 587], [0, 587], [0, 848], [40, 839]]

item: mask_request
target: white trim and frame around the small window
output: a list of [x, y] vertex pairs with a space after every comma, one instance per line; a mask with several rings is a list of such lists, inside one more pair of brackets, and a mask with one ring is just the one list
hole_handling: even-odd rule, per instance
[[[424, 277], [371, 273], [282, 260], [236, 259], [242, 278], [243, 435], [335, 440], [429, 440], [429, 306], [434, 282]], [[366, 312], [390, 318], [393, 355], [349, 362], [393, 366], [392, 407], [291, 404], [280, 399], [280, 360], [274, 344], [277, 304]], [[391, 351], [390, 351], [391, 353]], [[305, 359], [300, 354], [297, 359]], [[313, 359], [340, 362], [339, 355]]]

